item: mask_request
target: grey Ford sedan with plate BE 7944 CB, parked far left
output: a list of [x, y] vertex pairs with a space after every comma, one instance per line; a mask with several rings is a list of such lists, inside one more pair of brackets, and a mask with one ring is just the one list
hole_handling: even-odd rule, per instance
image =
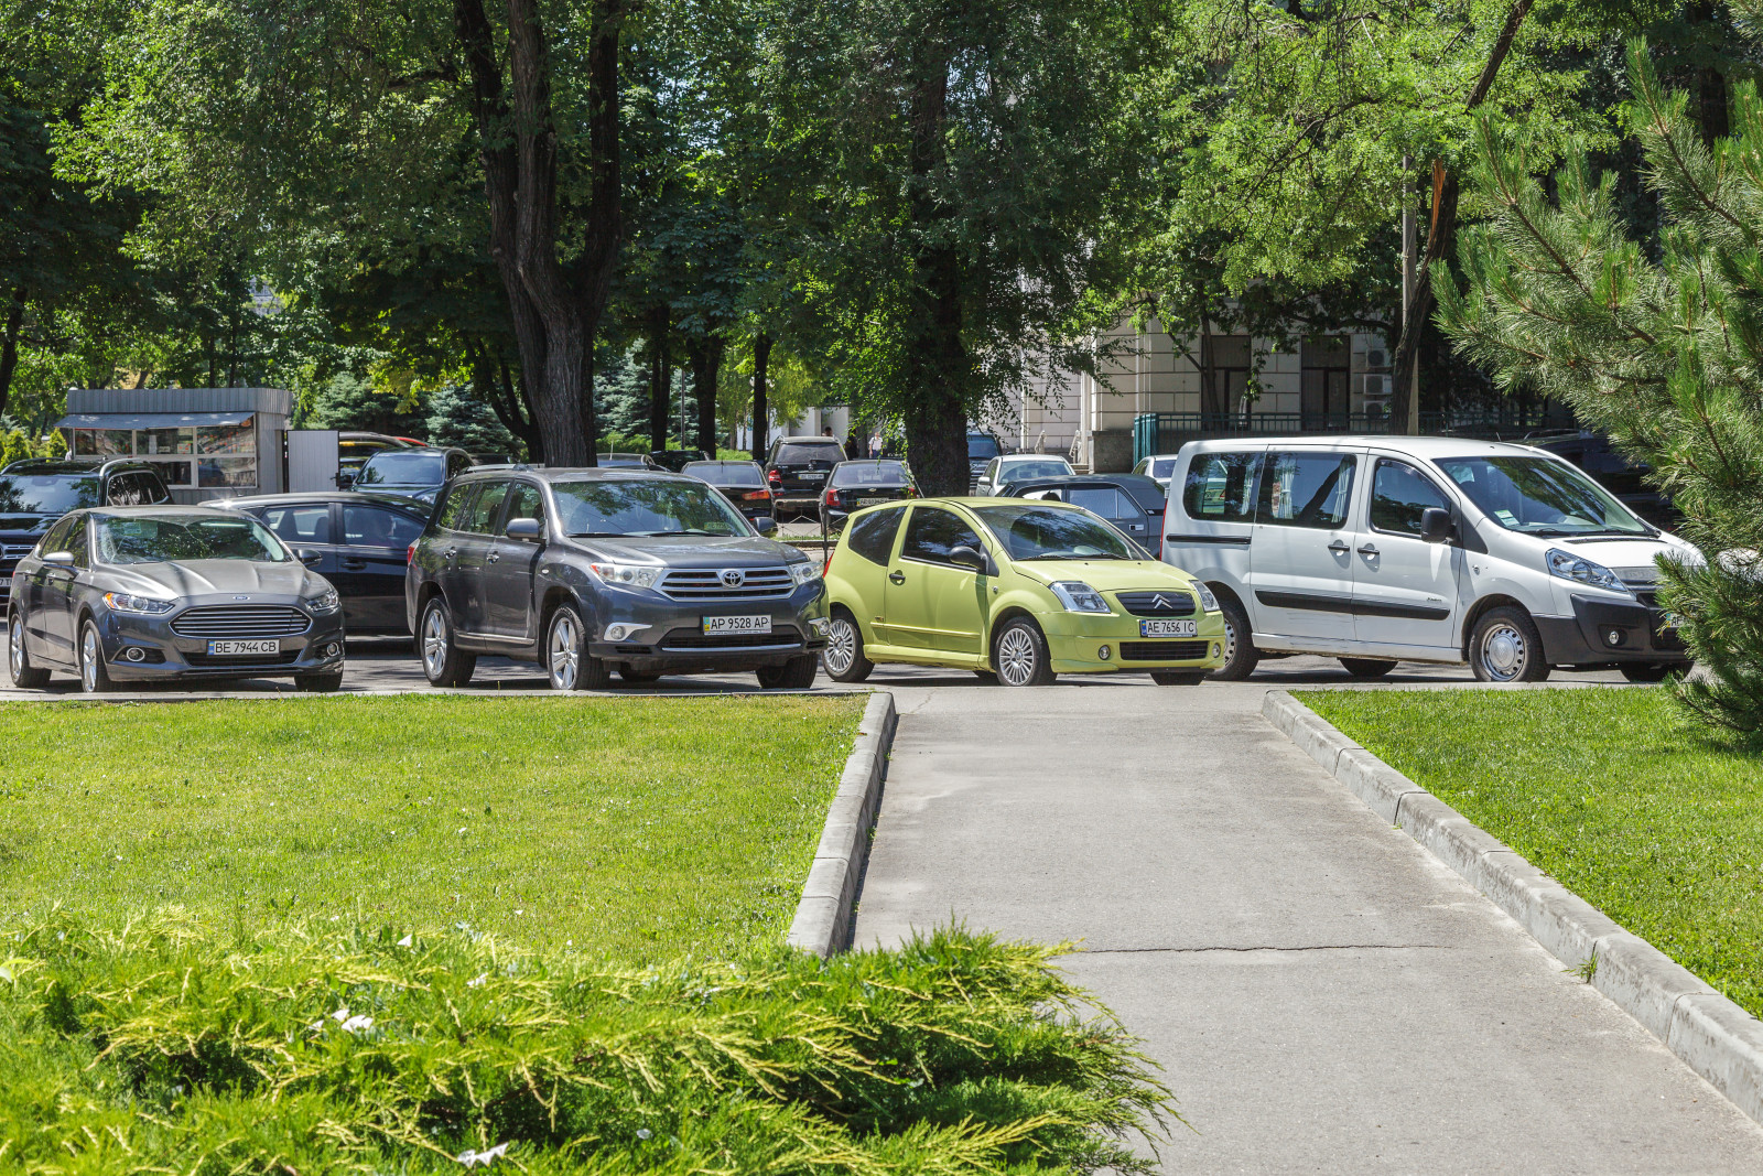
[[12, 571], [7, 672], [88, 693], [125, 681], [293, 677], [342, 686], [337, 591], [261, 522], [201, 506], [81, 510]]

